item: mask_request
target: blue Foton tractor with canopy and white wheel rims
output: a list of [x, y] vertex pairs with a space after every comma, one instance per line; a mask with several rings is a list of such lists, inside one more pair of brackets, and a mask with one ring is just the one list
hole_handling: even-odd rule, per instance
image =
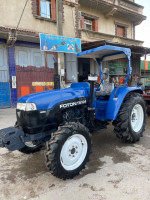
[[[100, 84], [97, 76], [89, 75], [88, 82], [73, 83], [70, 88], [21, 97], [16, 125], [0, 130], [0, 147], [10, 151], [31, 153], [46, 143], [47, 167], [62, 179], [73, 178], [85, 167], [91, 153], [90, 132], [112, 122], [118, 138], [134, 143], [145, 130], [140, 84], [127, 86], [132, 72], [130, 49], [105, 45], [78, 53], [77, 57], [97, 61]], [[124, 84], [114, 87], [102, 64], [121, 57], [128, 60], [127, 76]]]

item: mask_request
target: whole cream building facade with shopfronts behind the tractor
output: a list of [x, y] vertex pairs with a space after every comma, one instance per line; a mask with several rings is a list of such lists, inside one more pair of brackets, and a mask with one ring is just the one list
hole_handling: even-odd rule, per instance
[[[83, 44], [106, 40], [143, 45], [135, 40], [135, 26], [146, 17], [143, 7], [134, 0], [63, 0], [61, 6], [58, 2], [28, 0], [19, 27], [26, 0], [7, 0], [0, 5], [0, 107], [15, 106], [21, 96], [53, 89], [55, 62], [61, 81], [66, 84], [83, 81], [90, 72], [98, 72], [93, 60], [41, 52], [39, 33], [62, 32], [66, 37], [80, 38]], [[140, 55], [133, 57], [140, 59]]]

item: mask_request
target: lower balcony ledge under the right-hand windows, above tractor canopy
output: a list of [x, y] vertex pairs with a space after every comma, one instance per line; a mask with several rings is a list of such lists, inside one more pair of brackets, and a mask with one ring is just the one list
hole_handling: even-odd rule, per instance
[[81, 38], [83, 41], [86, 41], [86, 42], [95, 42], [95, 41], [105, 40], [107, 42], [118, 43], [118, 44], [129, 45], [129, 46], [132, 46], [132, 45], [139, 46], [139, 47], [143, 46], [143, 41], [140, 41], [140, 40], [133, 40], [129, 38], [118, 37], [111, 34], [89, 31], [85, 29], [81, 30]]

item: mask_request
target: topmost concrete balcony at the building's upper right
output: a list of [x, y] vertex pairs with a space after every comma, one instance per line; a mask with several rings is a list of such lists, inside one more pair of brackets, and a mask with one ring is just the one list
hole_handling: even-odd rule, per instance
[[96, 10], [106, 18], [115, 17], [140, 24], [146, 17], [143, 15], [143, 6], [129, 0], [80, 0], [81, 10], [84, 8]]

